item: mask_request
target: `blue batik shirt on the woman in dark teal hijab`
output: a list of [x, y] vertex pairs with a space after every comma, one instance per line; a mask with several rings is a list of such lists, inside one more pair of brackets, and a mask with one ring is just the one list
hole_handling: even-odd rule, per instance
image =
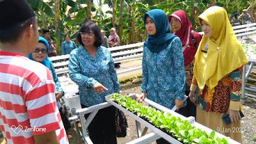
[[[173, 38], [166, 49], [151, 52], [143, 48], [141, 92], [147, 98], [168, 108], [175, 106], [175, 99], [184, 99], [185, 70], [182, 44], [178, 37]], [[183, 106], [186, 106], [186, 101]]]

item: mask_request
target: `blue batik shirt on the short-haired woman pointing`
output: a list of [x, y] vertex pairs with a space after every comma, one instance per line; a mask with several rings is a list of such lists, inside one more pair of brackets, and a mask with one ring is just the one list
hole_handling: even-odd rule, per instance
[[[97, 47], [95, 58], [82, 45], [74, 49], [70, 52], [68, 73], [79, 86], [80, 101], [84, 106], [106, 102], [106, 95], [120, 92], [114, 61], [106, 47]], [[93, 89], [96, 82], [108, 88], [108, 91], [96, 93]]]

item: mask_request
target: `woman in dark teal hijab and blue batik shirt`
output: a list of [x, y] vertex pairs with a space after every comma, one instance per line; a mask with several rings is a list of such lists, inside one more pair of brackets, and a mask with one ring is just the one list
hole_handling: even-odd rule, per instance
[[143, 46], [143, 81], [137, 100], [141, 102], [147, 97], [168, 109], [177, 106], [177, 111], [184, 115], [185, 70], [181, 41], [170, 33], [163, 10], [150, 10], [145, 13], [143, 20], [148, 39]]

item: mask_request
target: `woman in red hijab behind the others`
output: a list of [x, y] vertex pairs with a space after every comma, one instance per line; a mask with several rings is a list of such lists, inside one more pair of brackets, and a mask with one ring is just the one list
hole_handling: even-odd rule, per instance
[[[193, 78], [193, 67], [195, 64], [196, 49], [202, 40], [202, 35], [192, 30], [192, 24], [189, 21], [186, 12], [178, 10], [169, 15], [168, 20], [175, 30], [174, 35], [179, 36], [182, 42], [182, 51], [184, 56], [184, 66], [186, 73], [185, 93], [189, 95], [189, 88]], [[187, 99], [185, 116], [194, 116], [196, 118], [196, 106], [191, 100]]]

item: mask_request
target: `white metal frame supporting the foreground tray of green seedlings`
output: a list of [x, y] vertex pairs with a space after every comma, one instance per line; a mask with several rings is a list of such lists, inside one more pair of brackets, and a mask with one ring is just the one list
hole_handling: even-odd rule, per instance
[[[160, 129], [154, 127], [153, 125], [149, 124], [148, 122], [146, 122], [145, 120], [143, 120], [142, 118], [134, 115], [133, 113], [131, 113], [130, 111], [127, 111], [125, 108], [123, 108], [122, 106], [119, 106], [118, 104], [116, 104], [115, 102], [109, 100], [108, 98], [111, 97], [111, 95], [107, 95], [105, 97], [105, 99], [108, 102], [104, 102], [102, 104], [97, 104], [95, 106], [91, 106], [89, 108], [83, 108], [83, 109], [71, 109], [72, 115], [77, 115], [77, 119], [80, 120], [81, 125], [82, 125], [82, 132], [83, 134], [81, 134], [80, 131], [79, 135], [81, 134], [83, 136], [83, 140], [84, 143], [86, 144], [93, 144], [92, 140], [90, 140], [90, 137], [87, 134], [87, 128], [88, 125], [90, 125], [90, 122], [92, 122], [94, 116], [97, 114], [97, 112], [99, 111], [99, 109], [103, 109], [103, 108], [107, 108], [109, 106], [115, 106], [116, 108], [120, 109], [121, 111], [123, 111], [124, 113], [126, 113], [127, 115], [131, 116], [132, 118], [134, 118], [134, 120], [136, 120], [136, 125], [137, 125], [137, 130], [138, 130], [138, 139], [130, 141], [127, 144], [144, 144], [144, 143], [150, 143], [152, 141], [158, 140], [159, 138], [164, 138], [165, 140], [169, 141], [170, 143], [173, 144], [181, 144], [180, 141], [175, 140], [174, 138], [172, 138], [172, 136], [166, 134], [165, 132], [161, 131]], [[129, 97], [132, 97], [132, 99], [136, 99], [136, 97], [138, 97], [138, 94], [130, 94]], [[186, 118], [185, 116], [180, 115], [179, 113], [175, 113], [175, 111], [172, 111], [170, 109], [165, 108], [164, 106], [161, 106], [159, 104], [157, 104], [156, 102], [153, 102], [149, 99], [145, 99], [145, 102], [147, 102], [148, 104], [150, 104], [150, 106], [153, 106], [154, 108], [157, 108], [159, 110], [162, 110], [164, 112], [167, 113], [171, 113], [173, 116], [179, 116], [182, 120], [189, 120], [189, 122], [195, 126], [195, 127], [200, 127], [200, 129], [203, 131], [209, 131], [211, 132], [212, 129], [209, 129], [207, 127], [205, 127], [204, 125], [198, 124], [195, 122], [195, 118], [190, 116], [189, 118]], [[90, 115], [88, 116], [88, 118], [86, 119], [86, 121], [84, 121], [84, 115], [90, 113]], [[72, 117], [74, 121], [76, 121], [76, 116]], [[141, 132], [141, 127], [140, 124], [145, 125], [145, 129], [143, 130], [143, 132]], [[147, 129], [151, 129], [153, 132], [146, 134]], [[78, 129], [79, 130], [79, 129]], [[146, 134], [146, 135], [145, 135]], [[216, 132], [216, 136], [218, 136], [219, 138], [226, 138], [226, 136], [223, 136], [222, 134]], [[234, 141], [232, 139], [229, 140], [229, 143], [232, 144], [239, 144], [237, 141]]]

